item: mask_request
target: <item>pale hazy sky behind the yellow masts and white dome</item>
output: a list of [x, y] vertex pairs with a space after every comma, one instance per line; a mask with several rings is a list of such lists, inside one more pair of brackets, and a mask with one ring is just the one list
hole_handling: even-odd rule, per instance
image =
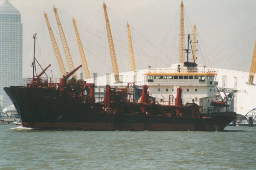
[[[3, 0], [1, 0], [3, 2]], [[52, 64], [59, 77], [49, 32], [48, 14], [62, 59], [66, 63], [57, 31], [53, 5], [63, 25], [75, 67], [80, 57], [73, 29], [75, 17], [90, 74], [112, 73], [102, 0], [10, 0], [23, 23], [23, 77], [30, 77], [32, 35], [38, 34], [36, 57], [43, 67]], [[130, 71], [126, 21], [131, 26], [137, 69], [168, 67], [178, 61], [180, 0], [105, 0], [119, 71]], [[207, 67], [248, 71], [256, 38], [256, 0], [184, 0], [185, 33], [197, 26], [198, 62]], [[66, 70], [68, 69], [66, 65]], [[82, 70], [79, 70], [81, 72]], [[48, 74], [50, 74], [48, 72]]]

